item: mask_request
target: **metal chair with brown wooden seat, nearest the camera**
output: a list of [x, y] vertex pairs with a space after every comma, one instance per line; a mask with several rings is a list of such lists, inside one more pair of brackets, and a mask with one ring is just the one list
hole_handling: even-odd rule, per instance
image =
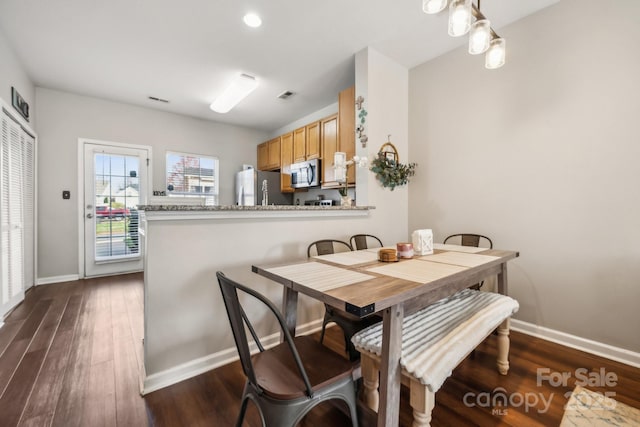
[[[341, 399], [349, 407], [354, 427], [358, 425], [353, 364], [309, 336], [292, 337], [276, 306], [260, 293], [217, 272], [218, 283], [229, 316], [233, 338], [247, 381], [236, 426], [240, 427], [252, 400], [263, 426], [294, 427], [314, 406]], [[276, 317], [284, 341], [265, 350], [238, 299], [238, 291], [266, 305]], [[251, 355], [249, 330], [259, 353]]]

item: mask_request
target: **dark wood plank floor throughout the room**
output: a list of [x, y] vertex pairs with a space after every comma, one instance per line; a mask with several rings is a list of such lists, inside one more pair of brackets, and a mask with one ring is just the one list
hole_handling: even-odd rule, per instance
[[[233, 425], [244, 384], [238, 362], [140, 397], [142, 301], [140, 274], [29, 291], [0, 329], [0, 427]], [[640, 369], [515, 332], [511, 338], [509, 375], [496, 372], [491, 336], [436, 394], [433, 426], [557, 426], [576, 380], [640, 408]], [[339, 329], [330, 328], [326, 342], [341, 351]], [[538, 369], [571, 378], [538, 384]], [[596, 386], [601, 370], [610, 380], [615, 374], [615, 385]], [[491, 403], [500, 395], [506, 406]], [[403, 388], [401, 426], [411, 425], [407, 401]], [[251, 405], [245, 425], [261, 425]], [[325, 404], [302, 425], [350, 422]]]

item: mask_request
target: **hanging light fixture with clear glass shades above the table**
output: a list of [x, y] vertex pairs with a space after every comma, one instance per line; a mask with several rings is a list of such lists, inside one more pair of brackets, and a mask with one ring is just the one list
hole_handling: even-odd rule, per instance
[[[469, 53], [485, 53], [485, 67], [494, 70], [505, 63], [506, 42], [491, 28], [491, 22], [471, 0], [451, 0], [449, 5], [449, 35], [459, 37], [469, 33]], [[424, 13], [436, 14], [444, 10], [447, 0], [422, 0]], [[473, 24], [471, 17], [475, 18]]]

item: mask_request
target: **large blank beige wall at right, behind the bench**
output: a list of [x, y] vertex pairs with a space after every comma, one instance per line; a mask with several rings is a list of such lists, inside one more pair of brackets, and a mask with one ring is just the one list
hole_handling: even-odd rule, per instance
[[491, 236], [516, 318], [640, 351], [640, 2], [564, 0], [410, 71], [409, 228]]

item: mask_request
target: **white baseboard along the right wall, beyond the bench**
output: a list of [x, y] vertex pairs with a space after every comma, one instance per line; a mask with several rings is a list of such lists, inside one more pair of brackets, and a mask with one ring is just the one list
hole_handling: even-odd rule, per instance
[[545, 328], [544, 326], [534, 325], [533, 323], [523, 322], [518, 319], [511, 319], [511, 329], [522, 332], [523, 334], [542, 338], [543, 340], [575, 348], [576, 350], [595, 354], [596, 356], [615, 360], [616, 362], [624, 363], [625, 365], [640, 368], [640, 353], [626, 350], [624, 348], [592, 341], [587, 338]]

